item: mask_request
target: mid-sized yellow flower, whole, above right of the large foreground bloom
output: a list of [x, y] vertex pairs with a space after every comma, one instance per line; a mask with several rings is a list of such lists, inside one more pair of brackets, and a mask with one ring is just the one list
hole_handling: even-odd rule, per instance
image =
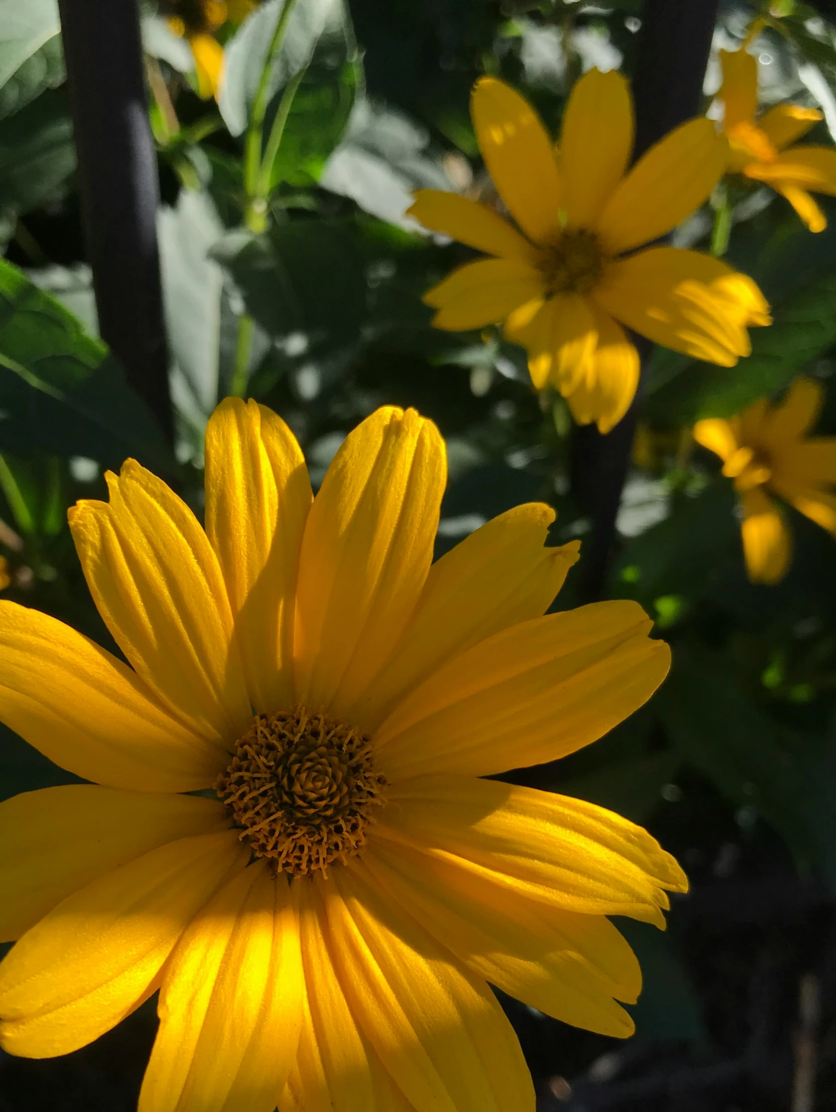
[[677, 128], [628, 172], [633, 101], [619, 73], [591, 70], [577, 82], [557, 155], [530, 105], [501, 81], [477, 82], [471, 112], [519, 230], [456, 193], [416, 195], [416, 220], [494, 256], [426, 295], [437, 328], [504, 320], [506, 336], [528, 349], [535, 387], [550, 383], [579, 424], [597, 421], [603, 433], [621, 419], [638, 383], [638, 354], [621, 325], [725, 367], [748, 355], [746, 326], [769, 322], [749, 278], [696, 251], [636, 250], [717, 183], [724, 147], [708, 120]]

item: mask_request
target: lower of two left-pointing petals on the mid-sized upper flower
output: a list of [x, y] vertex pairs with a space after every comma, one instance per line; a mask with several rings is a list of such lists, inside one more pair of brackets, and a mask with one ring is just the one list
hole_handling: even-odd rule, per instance
[[502, 320], [541, 290], [543, 278], [527, 262], [480, 259], [454, 270], [424, 300], [438, 309], [435, 328], [466, 331]]

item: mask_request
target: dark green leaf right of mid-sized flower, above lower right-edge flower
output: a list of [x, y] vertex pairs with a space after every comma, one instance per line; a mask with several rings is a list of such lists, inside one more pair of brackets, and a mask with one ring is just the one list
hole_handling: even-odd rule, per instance
[[732, 417], [758, 398], [787, 386], [836, 340], [836, 274], [828, 274], [775, 309], [774, 322], [753, 328], [752, 355], [736, 367], [690, 363], [647, 397], [647, 414], [686, 425]]

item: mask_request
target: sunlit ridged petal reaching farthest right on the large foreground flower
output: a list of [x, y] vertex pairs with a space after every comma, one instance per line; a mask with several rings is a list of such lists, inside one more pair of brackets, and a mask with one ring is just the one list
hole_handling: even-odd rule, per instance
[[539, 903], [584, 915], [629, 915], [664, 926], [665, 890], [688, 882], [640, 826], [583, 800], [469, 776], [420, 776], [392, 785], [375, 827]]

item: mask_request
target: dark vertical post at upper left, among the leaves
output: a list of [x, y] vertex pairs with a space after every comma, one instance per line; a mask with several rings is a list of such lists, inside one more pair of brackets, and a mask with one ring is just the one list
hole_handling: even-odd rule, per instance
[[137, 0], [59, 0], [59, 8], [99, 328], [171, 440], [159, 186]]

